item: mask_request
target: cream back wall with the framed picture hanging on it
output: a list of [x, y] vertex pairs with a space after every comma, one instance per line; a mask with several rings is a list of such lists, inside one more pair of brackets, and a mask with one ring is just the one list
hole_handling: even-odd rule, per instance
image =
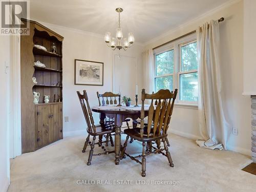
[[[55, 26], [39, 22], [64, 37], [62, 46], [63, 63], [63, 117], [69, 116], [69, 122], [63, 122], [63, 134], [70, 135], [72, 132], [83, 130], [85, 133], [86, 123], [81, 111], [76, 91], [87, 90], [90, 105], [98, 104], [96, 92], [104, 93], [113, 90], [113, 63], [114, 56], [118, 51], [107, 47], [103, 36], [66, 27]], [[127, 51], [121, 50], [120, 55], [136, 57], [137, 79], [139, 90], [142, 89], [143, 77], [141, 52], [143, 46], [135, 45]], [[77, 86], [74, 85], [74, 59], [92, 60], [104, 62], [104, 86]], [[129, 68], [130, 66], [127, 66]], [[135, 70], [135, 69], [134, 69]], [[136, 70], [135, 70], [136, 72]], [[134, 78], [131, 77], [131, 78]], [[129, 79], [127, 79], [129, 83]], [[124, 88], [122, 88], [124, 89]], [[135, 88], [134, 88], [135, 89]], [[116, 90], [118, 92], [118, 90]], [[94, 113], [95, 123], [99, 122], [99, 114]], [[78, 133], [78, 132], [76, 132]]]

